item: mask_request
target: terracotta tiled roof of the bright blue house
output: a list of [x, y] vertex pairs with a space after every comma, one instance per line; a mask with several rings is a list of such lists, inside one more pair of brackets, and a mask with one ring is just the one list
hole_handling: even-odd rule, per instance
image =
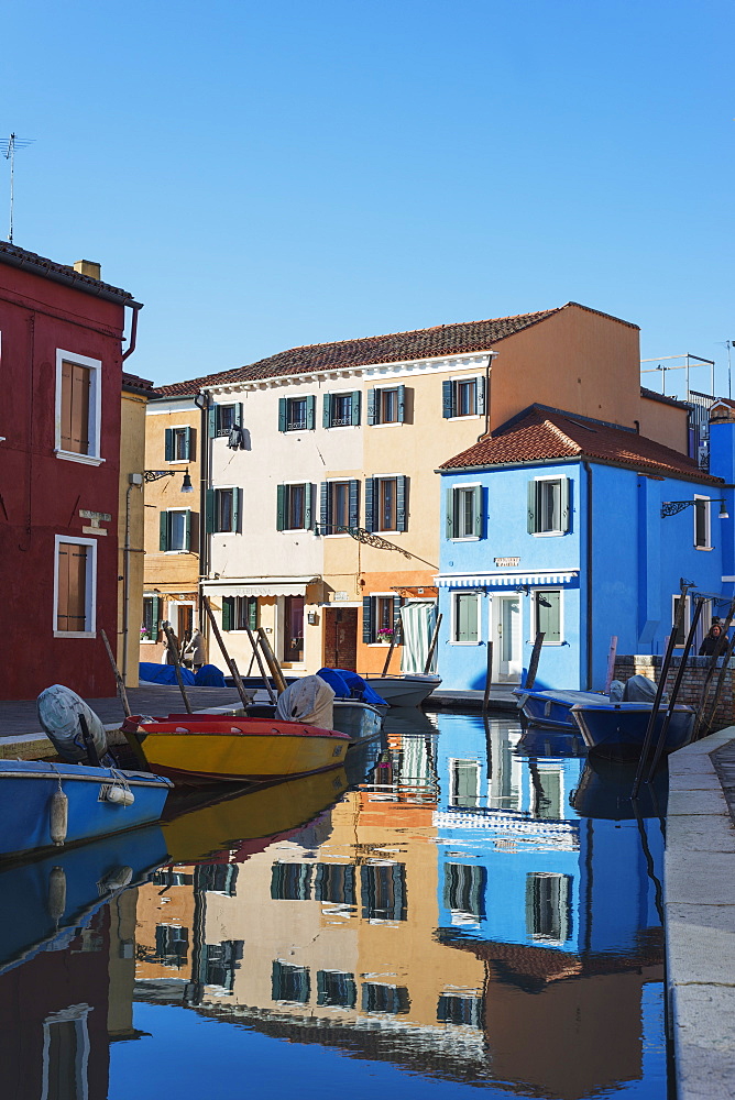
[[661, 476], [684, 474], [713, 485], [722, 484], [722, 479], [703, 473], [693, 459], [670, 447], [630, 429], [544, 405], [530, 405], [439, 469], [465, 470], [570, 458], [599, 459]]

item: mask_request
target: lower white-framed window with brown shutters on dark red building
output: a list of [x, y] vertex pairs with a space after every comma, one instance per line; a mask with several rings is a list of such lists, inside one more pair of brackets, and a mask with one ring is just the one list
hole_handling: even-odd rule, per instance
[[95, 636], [97, 543], [56, 536], [54, 564], [54, 635]]

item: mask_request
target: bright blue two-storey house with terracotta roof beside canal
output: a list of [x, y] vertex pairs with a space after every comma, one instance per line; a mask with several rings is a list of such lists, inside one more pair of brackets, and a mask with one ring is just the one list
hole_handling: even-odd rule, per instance
[[[597, 688], [610, 640], [660, 653], [680, 579], [732, 588], [733, 424], [711, 426], [712, 476], [635, 430], [533, 405], [441, 466], [438, 660], [446, 688], [517, 682], [538, 631], [537, 686]], [[688, 502], [662, 517], [665, 502]], [[669, 509], [670, 510], [670, 509]], [[705, 607], [702, 629], [716, 614]]]

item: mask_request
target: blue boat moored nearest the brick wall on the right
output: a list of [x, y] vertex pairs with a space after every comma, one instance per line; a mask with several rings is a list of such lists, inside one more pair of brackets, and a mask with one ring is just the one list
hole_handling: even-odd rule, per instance
[[[577, 703], [571, 708], [588, 751], [610, 760], [638, 758], [646, 738], [651, 713], [650, 703], [611, 703], [599, 697], [596, 703]], [[659, 707], [654, 727], [651, 752], [656, 748], [667, 707]], [[695, 711], [678, 703], [671, 713], [663, 752], [689, 745], [694, 734]]]

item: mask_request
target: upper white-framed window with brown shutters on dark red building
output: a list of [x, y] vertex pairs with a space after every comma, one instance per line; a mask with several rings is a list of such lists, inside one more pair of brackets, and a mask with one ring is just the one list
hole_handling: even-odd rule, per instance
[[56, 454], [99, 465], [101, 370], [98, 359], [56, 352]]

